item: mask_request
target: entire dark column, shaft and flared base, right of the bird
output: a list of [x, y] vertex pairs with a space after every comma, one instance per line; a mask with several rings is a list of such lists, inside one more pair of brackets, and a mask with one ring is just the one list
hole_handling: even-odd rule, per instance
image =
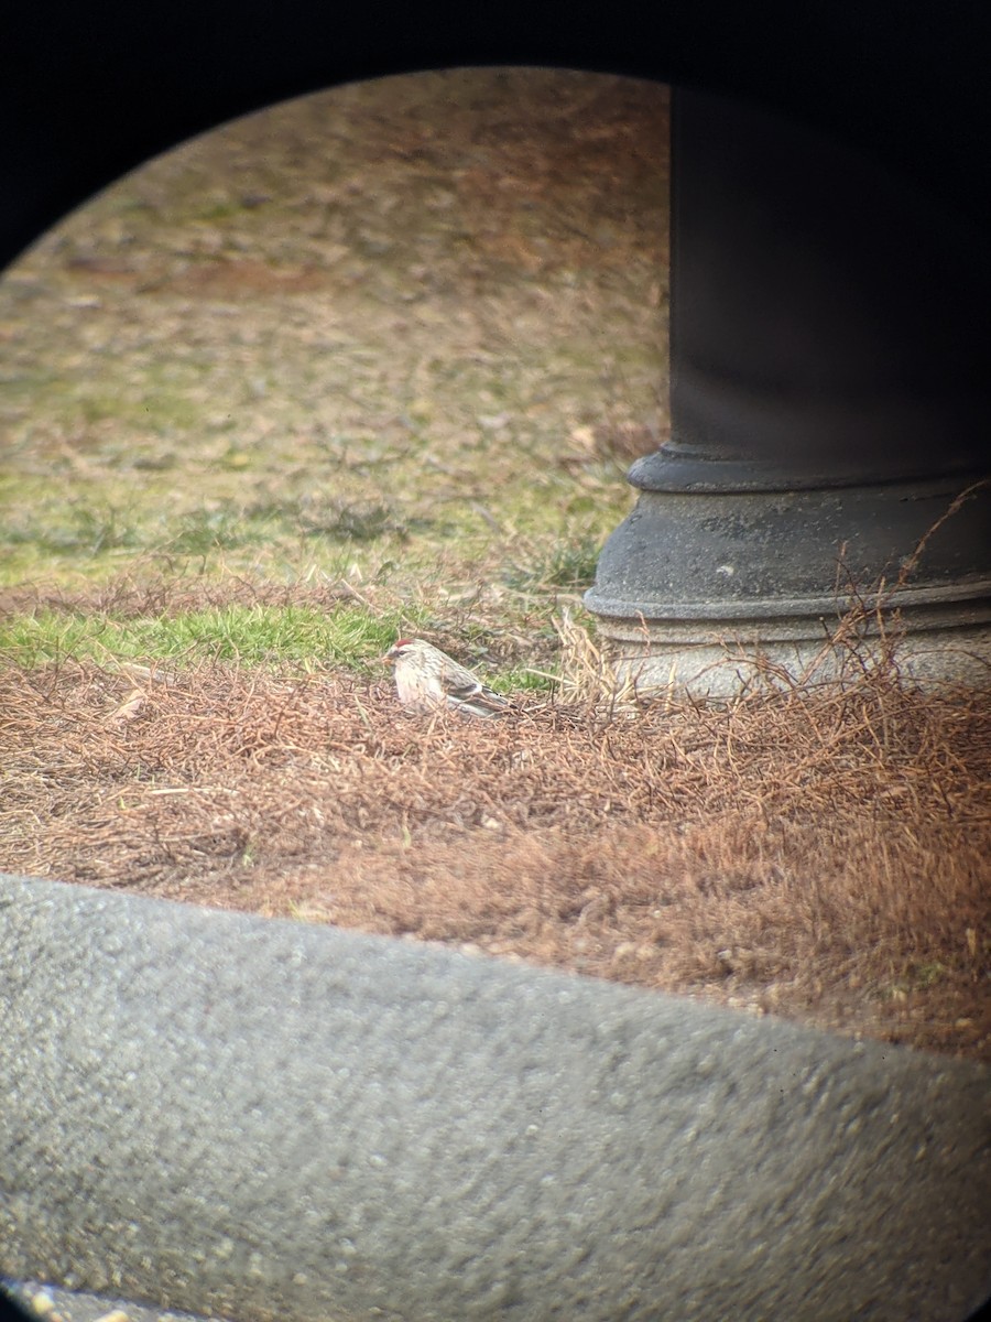
[[671, 157], [671, 439], [630, 469], [640, 500], [587, 596], [620, 669], [711, 695], [760, 656], [799, 674], [852, 586], [899, 611], [909, 673], [987, 677], [982, 241], [723, 98], [675, 91]]

